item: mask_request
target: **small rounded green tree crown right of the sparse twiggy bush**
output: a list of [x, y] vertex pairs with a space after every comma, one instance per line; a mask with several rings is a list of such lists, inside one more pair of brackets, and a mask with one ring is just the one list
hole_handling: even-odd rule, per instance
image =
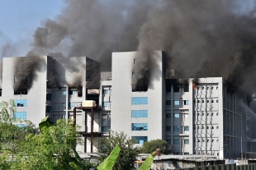
[[168, 142], [165, 140], [150, 140], [145, 142], [140, 149], [140, 153], [150, 154], [154, 152], [155, 149], [162, 149], [163, 154], [171, 153]]

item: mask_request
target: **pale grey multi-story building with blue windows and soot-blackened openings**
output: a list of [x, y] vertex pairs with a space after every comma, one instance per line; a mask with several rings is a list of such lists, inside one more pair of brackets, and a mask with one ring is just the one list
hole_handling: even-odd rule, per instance
[[14, 99], [16, 117], [36, 124], [45, 116], [53, 121], [73, 118], [73, 108], [85, 99], [95, 100], [101, 111], [93, 113], [93, 120], [90, 110], [76, 112], [84, 141], [77, 146], [81, 152], [97, 151], [98, 138], [90, 137], [90, 132], [107, 136], [110, 129], [126, 132], [137, 145], [167, 140], [173, 154], [224, 159], [256, 152], [255, 113], [244, 93], [230, 92], [221, 77], [182, 79], [174, 71], [167, 77], [162, 51], [154, 53], [156, 67], [150, 71], [148, 88], [132, 90], [136, 53], [112, 53], [111, 71], [102, 72], [101, 78], [100, 64], [88, 57], [40, 57], [45, 67], [36, 69], [26, 93], [13, 89], [19, 57], [4, 57], [1, 100]]

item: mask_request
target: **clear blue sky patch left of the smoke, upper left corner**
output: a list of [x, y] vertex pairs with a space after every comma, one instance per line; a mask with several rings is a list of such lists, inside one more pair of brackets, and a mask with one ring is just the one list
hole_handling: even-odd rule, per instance
[[19, 44], [16, 54], [25, 55], [41, 21], [54, 19], [64, 7], [63, 0], [0, 0], [0, 46]]

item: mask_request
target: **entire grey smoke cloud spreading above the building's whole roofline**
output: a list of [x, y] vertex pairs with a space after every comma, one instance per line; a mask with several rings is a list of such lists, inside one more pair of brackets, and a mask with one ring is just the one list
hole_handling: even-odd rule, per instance
[[254, 87], [255, 2], [242, 0], [66, 0], [55, 19], [42, 22], [31, 52], [88, 56], [111, 69], [111, 52], [139, 50], [132, 86], [147, 86], [164, 50], [168, 70], [185, 78], [224, 76], [230, 91]]

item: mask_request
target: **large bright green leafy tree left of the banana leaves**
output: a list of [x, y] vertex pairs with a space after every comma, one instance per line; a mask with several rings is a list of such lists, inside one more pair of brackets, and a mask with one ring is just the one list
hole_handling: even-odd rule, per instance
[[[48, 121], [46, 118], [44, 121]], [[73, 146], [77, 141], [73, 121], [58, 120], [57, 125], [48, 124], [40, 135], [28, 135], [21, 144], [21, 151], [16, 156], [12, 169], [20, 170], [58, 170], [73, 169], [69, 163], [75, 161]]]

